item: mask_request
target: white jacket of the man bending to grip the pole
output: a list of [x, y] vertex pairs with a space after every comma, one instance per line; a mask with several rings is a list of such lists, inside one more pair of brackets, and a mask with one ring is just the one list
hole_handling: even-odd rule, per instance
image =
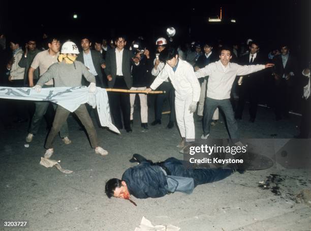
[[[150, 88], [156, 89], [160, 84], [170, 78], [175, 88], [175, 97], [179, 100], [191, 100], [198, 102], [200, 98], [200, 84], [190, 63], [179, 58], [177, 69], [174, 72], [170, 65], [165, 65], [153, 81]], [[191, 102], [190, 102], [191, 103]], [[188, 109], [188, 108], [186, 108]]]

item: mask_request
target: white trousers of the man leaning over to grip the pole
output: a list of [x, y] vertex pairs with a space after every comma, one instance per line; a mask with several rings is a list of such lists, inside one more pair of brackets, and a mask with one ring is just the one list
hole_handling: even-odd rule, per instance
[[193, 113], [190, 113], [189, 106], [192, 103], [192, 97], [181, 100], [175, 97], [176, 121], [181, 137], [185, 137], [186, 141], [194, 141], [195, 125]]

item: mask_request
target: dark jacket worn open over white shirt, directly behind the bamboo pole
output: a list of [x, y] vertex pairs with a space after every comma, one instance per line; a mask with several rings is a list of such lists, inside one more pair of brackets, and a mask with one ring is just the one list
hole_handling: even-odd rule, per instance
[[[132, 54], [129, 50], [123, 50], [122, 56], [122, 74], [124, 80], [130, 89], [133, 86], [133, 78], [131, 75]], [[106, 53], [106, 75], [111, 75], [112, 80], [108, 81], [108, 87], [113, 88], [116, 78], [116, 56], [115, 49], [110, 49]]]

